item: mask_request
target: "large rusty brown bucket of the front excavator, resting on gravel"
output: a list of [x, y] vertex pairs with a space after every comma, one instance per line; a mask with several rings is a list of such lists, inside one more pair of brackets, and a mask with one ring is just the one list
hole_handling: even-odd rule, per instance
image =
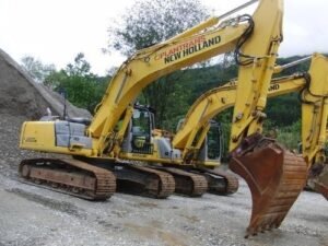
[[279, 227], [305, 186], [307, 165], [273, 139], [255, 133], [232, 152], [230, 168], [249, 186], [253, 200], [245, 237]]

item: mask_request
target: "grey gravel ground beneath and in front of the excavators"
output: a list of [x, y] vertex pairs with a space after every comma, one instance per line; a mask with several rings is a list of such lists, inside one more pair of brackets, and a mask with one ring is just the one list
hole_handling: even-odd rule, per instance
[[244, 239], [251, 204], [242, 180], [230, 197], [155, 200], [115, 194], [105, 202], [20, 183], [20, 160], [36, 155], [17, 148], [23, 120], [0, 115], [0, 246], [328, 246], [328, 203], [314, 192], [302, 192], [280, 229]]

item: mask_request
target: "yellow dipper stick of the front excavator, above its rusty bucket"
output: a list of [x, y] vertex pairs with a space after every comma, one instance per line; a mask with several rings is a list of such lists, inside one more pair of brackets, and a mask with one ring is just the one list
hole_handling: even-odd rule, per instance
[[263, 0], [254, 14], [254, 32], [242, 50], [251, 57], [253, 62], [239, 67], [230, 151], [245, 136], [261, 131], [262, 124], [258, 119], [266, 107], [268, 87], [282, 38], [282, 0]]

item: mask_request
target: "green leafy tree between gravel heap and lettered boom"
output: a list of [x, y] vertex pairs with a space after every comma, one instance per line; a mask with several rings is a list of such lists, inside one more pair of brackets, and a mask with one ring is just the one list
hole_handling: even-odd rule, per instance
[[90, 63], [80, 52], [66, 69], [50, 73], [45, 84], [57, 92], [65, 91], [72, 104], [93, 112], [105, 92], [108, 78], [98, 78], [90, 70]]

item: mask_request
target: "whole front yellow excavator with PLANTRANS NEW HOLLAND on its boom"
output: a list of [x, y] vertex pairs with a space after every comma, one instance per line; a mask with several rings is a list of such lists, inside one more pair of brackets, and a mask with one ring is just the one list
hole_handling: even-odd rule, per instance
[[[282, 40], [283, 1], [261, 0], [253, 16], [244, 14], [226, 19], [242, 8], [136, 52], [112, 79], [91, 122], [79, 119], [24, 122], [20, 139], [22, 149], [74, 159], [23, 160], [20, 164], [22, 176], [86, 199], [110, 197], [116, 179], [119, 186], [138, 192], [142, 188], [148, 195], [167, 197], [175, 190], [171, 174], [121, 161], [183, 162], [178, 152], [166, 153], [166, 149], [172, 150], [166, 140], [161, 145], [164, 150], [161, 157], [157, 157], [160, 150], [152, 144], [143, 144], [141, 153], [137, 150], [138, 131], [142, 129], [131, 129], [133, 134], [127, 134], [131, 118], [133, 121], [133, 103], [141, 90], [160, 77], [234, 51], [239, 69], [231, 168], [246, 179], [251, 190], [253, 218], [248, 233], [279, 226], [307, 175], [303, 157], [260, 134], [268, 87]], [[126, 134], [132, 139], [125, 138]]]

